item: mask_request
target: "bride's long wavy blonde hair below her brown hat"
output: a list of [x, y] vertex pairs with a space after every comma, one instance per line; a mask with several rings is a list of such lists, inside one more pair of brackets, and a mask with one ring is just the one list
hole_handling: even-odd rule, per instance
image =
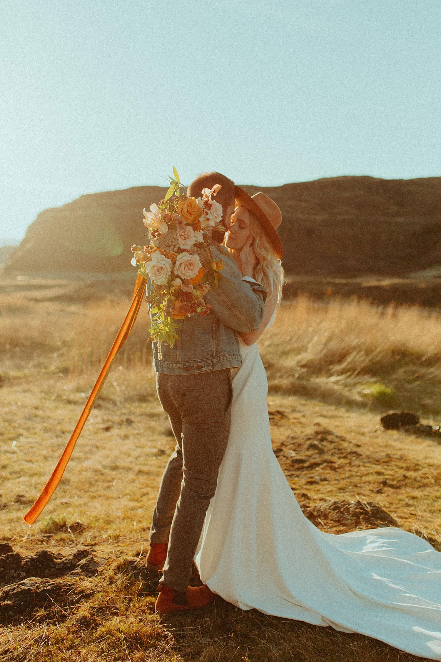
[[[238, 209], [238, 207], [236, 207]], [[246, 209], [246, 207], [243, 207]], [[284, 284], [284, 270], [282, 261], [274, 255], [274, 249], [264, 233], [256, 216], [247, 209], [250, 219], [250, 234], [254, 237], [253, 250], [257, 257], [253, 278], [268, 290], [268, 296], [277, 294], [277, 303], [282, 300], [282, 287]], [[232, 252], [230, 250], [230, 252]]]

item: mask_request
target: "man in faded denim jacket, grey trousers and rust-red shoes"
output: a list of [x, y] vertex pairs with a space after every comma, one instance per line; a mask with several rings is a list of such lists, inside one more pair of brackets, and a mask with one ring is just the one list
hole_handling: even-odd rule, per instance
[[[216, 202], [223, 209], [223, 226], [234, 211], [235, 185], [218, 172], [199, 175], [187, 195], [220, 184]], [[223, 263], [218, 290], [205, 295], [210, 314], [180, 320], [179, 340], [163, 344], [159, 358], [153, 343], [157, 393], [169, 415], [177, 441], [161, 479], [150, 530], [147, 567], [160, 570], [156, 609], [159, 612], [206, 606], [214, 594], [206, 586], [188, 587], [191, 566], [208, 504], [216, 491], [218, 472], [227, 448], [231, 421], [231, 368], [241, 366], [236, 332], [259, 328], [266, 290], [243, 277], [233, 256], [209, 241], [212, 260]], [[247, 269], [245, 256], [245, 273]]]

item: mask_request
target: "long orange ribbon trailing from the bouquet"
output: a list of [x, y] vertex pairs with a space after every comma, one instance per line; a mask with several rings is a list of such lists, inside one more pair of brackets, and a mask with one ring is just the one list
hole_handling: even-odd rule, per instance
[[128, 313], [126, 314], [126, 318], [124, 319], [124, 322], [122, 322], [122, 326], [118, 331], [118, 335], [114, 340], [112, 348], [110, 348], [110, 352], [108, 353], [106, 360], [104, 361], [104, 365], [101, 368], [99, 377], [95, 382], [95, 386], [92, 389], [91, 395], [89, 395], [89, 399], [85, 404], [83, 413], [79, 417], [79, 421], [75, 426], [75, 430], [73, 430], [72, 432], [71, 438], [67, 442], [66, 448], [63, 450], [63, 454], [60, 457], [60, 461], [58, 462], [58, 465], [54, 469], [54, 473], [52, 473], [52, 476], [50, 477], [50, 479], [42, 489], [40, 496], [38, 497], [32, 508], [30, 508], [30, 510], [26, 512], [26, 515], [24, 515], [23, 519], [25, 522], [27, 522], [27, 524], [34, 524], [36, 518], [46, 507], [51, 496], [56, 491], [58, 487], [58, 483], [60, 483], [61, 476], [63, 475], [65, 468], [67, 467], [67, 463], [69, 462], [69, 459], [72, 455], [72, 451], [73, 448], [75, 447], [75, 444], [77, 443], [77, 439], [81, 434], [81, 430], [83, 430], [85, 426], [85, 422], [87, 421], [87, 418], [89, 418], [89, 414], [91, 413], [93, 405], [95, 404], [95, 400], [97, 399], [97, 396], [99, 395], [99, 392], [102, 389], [102, 385], [106, 380], [110, 366], [112, 365], [114, 358], [116, 357], [122, 346], [124, 345], [124, 342], [126, 342], [126, 338], [128, 337], [128, 334], [130, 334], [130, 331], [132, 330], [132, 326], [135, 323], [136, 317], [138, 316], [138, 312], [140, 312], [146, 284], [147, 281], [145, 278], [143, 278], [142, 276], [137, 277], [132, 303], [130, 305]]

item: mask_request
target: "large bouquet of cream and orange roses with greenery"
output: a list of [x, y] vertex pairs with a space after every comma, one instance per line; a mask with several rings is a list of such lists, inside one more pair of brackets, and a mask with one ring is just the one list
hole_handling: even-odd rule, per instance
[[[204, 295], [218, 288], [223, 263], [213, 261], [208, 228], [223, 230], [222, 207], [212, 200], [220, 185], [204, 189], [198, 199], [187, 197], [177, 169], [165, 197], [150, 211], [143, 210], [143, 223], [149, 230], [145, 246], [132, 246], [132, 265], [147, 279], [150, 336], [173, 347], [179, 338], [179, 321], [184, 317], [211, 310]], [[181, 191], [182, 189], [182, 191]]]

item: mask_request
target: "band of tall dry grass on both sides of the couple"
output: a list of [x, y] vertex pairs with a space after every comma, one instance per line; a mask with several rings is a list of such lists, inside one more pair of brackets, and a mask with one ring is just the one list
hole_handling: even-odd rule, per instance
[[[0, 371], [94, 375], [127, 309], [123, 299], [67, 305], [3, 297]], [[355, 299], [323, 305], [299, 297], [282, 303], [259, 345], [272, 391], [441, 411], [436, 312]], [[151, 367], [146, 307], [117, 361], [124, 368]]]

